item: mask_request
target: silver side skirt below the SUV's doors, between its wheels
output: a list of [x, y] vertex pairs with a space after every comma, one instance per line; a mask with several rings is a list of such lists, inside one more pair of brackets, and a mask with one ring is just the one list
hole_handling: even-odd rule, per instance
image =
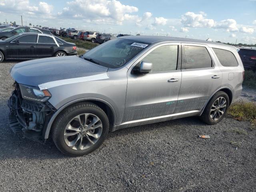
[[168, 120], [173, 120], [173, 119], [178, 119], [178, 118], [183, 118], [183, 117], [189, 117], [189, 116], [199, 116], [200, 113], [201, 113], [201, 111], [195, 110], [195, 111], [188, 111], [188, 112], [170, 114], [170, 115], [165, 115], [165, 116], [158, 116], [158, 117], [128, 121], [128, 122], [124, 122], [120, 125], [113, 126], [112, 132], [119, 130], [119, 129], [128, 128], [128, 127], [158, 123], [158, 122], [163, 122], [163, 121], [168, 121]]

